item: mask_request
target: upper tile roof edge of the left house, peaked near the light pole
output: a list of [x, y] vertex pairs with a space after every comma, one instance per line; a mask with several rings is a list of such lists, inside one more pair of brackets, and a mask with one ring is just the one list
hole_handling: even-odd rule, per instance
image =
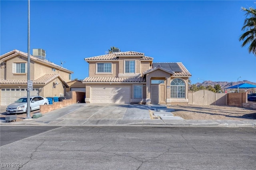
[[[22, 51], [19, 51], [19, 50], [17, 50], [17, 49], [14, 49], [13, 51], [10, 51], [10, 52], [8, 52], [8, 53], [5, 53], [5, 54], [1, 55], [1, 56], [0, 56], [0, 59], [4, 61], [4, 60], [6, 60], [6, 59], [8, 59], [8, 58], [11, 58], [11, 57], [17, 55], [17, 54], [23, 55], [24, 57], [28, 57], [28, 53], [24, 53], [24, 52], [22, 52]], [[68, 71], [68, 72], [70, 72], [70, 73], [73, 73], [73, 71], [70, 71], [70, 70], [68, 70], [68, 69], [65, 69], [64, 67], [61, 67], [60, 65], [54, 64], [54, 63], [52, 63], [52, 62], [50, 62], [50, 61], [48, 61], [48, 60], [46, 60], [46, 59], [40, 59], [40, 58], [34, 57], [33, 55], [30, 55], [30, 59], [33, 59], [33, 60], [42, 62], [42, 63], [44, 63], [44, 64], [46, 64], [46, 65], [50, 65], [50, 66], [56, 67], [56, 68], [58, 68], [58, 69], [62, 69], [62, 70]]]

